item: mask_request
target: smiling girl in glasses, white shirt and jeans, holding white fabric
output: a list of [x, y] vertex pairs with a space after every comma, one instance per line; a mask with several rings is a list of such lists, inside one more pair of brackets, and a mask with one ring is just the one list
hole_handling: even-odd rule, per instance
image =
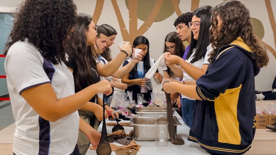
[[[204, 75], [209, 65], [209, 54], [213, 50], [209, 40], [209, 28], [211, 13], [211, 6], [204, 6], [193, 11], [192, 22], [189, 22], [189, 27], [192, 31], [192, 40], [189, 53], [186, 60], [176, 55], [165, 55], [166, 64], [175, 73], [175, 75], [182, 78], [181, 84], [197, 80]], [[175, 64], [179, 64], [182, 69]], [[181, 76], [182, 75], [182, 76]], [[181, 109], [183, 121], [191, 127], [193, 124], [193, 111], [195, 108], [195, 99], [181, 95]]]

